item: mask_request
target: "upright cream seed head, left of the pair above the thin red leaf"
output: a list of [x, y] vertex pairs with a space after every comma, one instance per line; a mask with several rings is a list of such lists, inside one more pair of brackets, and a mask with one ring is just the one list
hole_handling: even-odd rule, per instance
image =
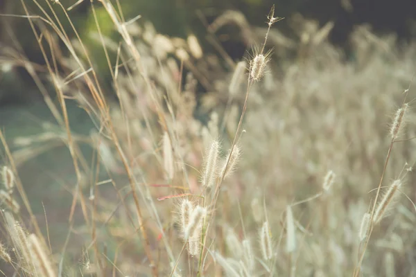
[[220, 143], [216, 140], [212, 141], [204, 159], [204, 170], [202, 170], [202, 185], [207, 188], [215, 184], [218, 175], [217, 167], [219, 152]]

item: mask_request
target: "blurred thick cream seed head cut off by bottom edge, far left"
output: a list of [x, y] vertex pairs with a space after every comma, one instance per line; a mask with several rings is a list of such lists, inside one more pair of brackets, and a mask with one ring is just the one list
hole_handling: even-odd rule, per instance
[[39, 276], [55, 277], [56, 274], [51, 265], [51, 261], [35, 234], [28, 235], [28, 249], [33, 258], [33, 265], [35, 266], [36, 273], [39, 274]]

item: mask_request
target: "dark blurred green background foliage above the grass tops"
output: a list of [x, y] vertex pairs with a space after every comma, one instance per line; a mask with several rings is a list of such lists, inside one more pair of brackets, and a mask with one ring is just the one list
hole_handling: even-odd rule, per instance
[[[35, 1], [24, 0], [32, 14], [40, 14]], [[51, 1], [53, 2], [53, 1]], [[60, 0], [66, 8], [73, 6], [75, 0]], [[114, 5], [116, 5], [116, 2]], [[270, 7], [276, 5], [279, 17], [291, 18], [300, 14], [307, 19], [315, 19], [320, 26], [333, 21], [330, 39], [334, 44], [349, 51], [349, 34], [357, 24], [368, 23], [375, 33], [395, 33], [399, 42], [406, 42], [415, 37], [416, 9], [414, 0], [121, 0], [121, 10], [125, 21], [141, 15], [139, 21], [150, 21], [158, 33], [171, 37], [187, 37], [190, 33], [196, 34], [205, 48], [210, 51], [205, 41], [207, 35], [206, 24], [211, 23], [227, 10], [238, 10], [246, 17], [252, 26], [264, 26], [266, 15]], [[37, 1], [42, 8], [49, 10], [46, 0]], [[98, 1], [93, 1], [101, 31], [106, 37], [119, 41], [119, 37], [107, 12]], [[55, 5], [53, 3], [53, 5]], [[55, 9], [59, 18], [64, 14], [59, 8]], [[3, 15], [24, 15], [21, 1], [0, 1], [0, 13]], [[109, 77], [107, 62], [101, 44], [92, 39], [89, 34], [96, 32], [94, 15], [90, 1], [83, 1], [69, 10], [69, 16], [80, 33], [87, 48], [91, 49], [93, 60], [96, 61], [96, 71], [104, 80]], [[33, 31], [27, 19], [19, 17], [1, 16], [0, 45], [15, 48], [11, 34], [19, 37], [21, 45], [28, 60], [43, 63], [40, 49], [35, 42]], [[290, 20], [280, 21], [274, 26], [284, 35], [293, 37]], [[62, 21], [66, 30], [70, 30], [69, 21]], [[235, 59], [241, 58], [246, 47], [241, 46], [241, 37], [232, 37], [233, 29], [225, 28], [226, 39], [221, 40], [225, 50]], [[69, 31], [71, 34], [72, 32]], [[64, 47], [62, 47], [64, 49]], [[0, 50], [1, 51], [1, 50]], [[65, 53], [64, 53], [65, 54]], [[351, 53], [349, 53], [351, 54]], [[110, 57], [112, 60], [115, 57]], [[7, 71], [3, 69], [0, 77], [0, 105], [9, 102], [32, 99], [28, 95], [31, 91], [31, 80], [22, 69]]]

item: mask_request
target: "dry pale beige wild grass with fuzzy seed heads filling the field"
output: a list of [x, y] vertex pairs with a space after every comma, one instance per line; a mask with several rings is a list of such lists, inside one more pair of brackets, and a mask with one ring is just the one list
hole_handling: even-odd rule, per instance
[[[96, 33], [88, 34], [103, 47], [111, 100], [71, 24], [76, 6], [21, 0], [45, 66], [25, 57], [18, 35], [2, 60], [24, 66], [42, 91], [76, 184], [62, 188], [72, 197], [68, 228], [51, 244], [55, 207], [33, 213], [0, 131], [4, 276], [416, 274], [414, 44], [399, 51], [394, 37], [358, 26], [355, 61], [346, 61], [328, 42], [331, 22], [287, 19], [297, 35], [289, 39], [273, 29], [281, 19], [273, 7], [261, 40], [236, 20], [261, 46], [248, 62], [233, 61], [221, 48], [205, 53], [194, 35], [167, 37], [125, 19], [119, 4], [92, 2]], [[98, 10], [119, 42], [101, 32]], [[207, 28], [216, 47], [231, 15]], [[69, 101], [91, 116], [91, 136], [71, 129]], [[13, 143], [31, 152], [40, 137]], [[94, 148], [92, 161], [80, 143]]]

